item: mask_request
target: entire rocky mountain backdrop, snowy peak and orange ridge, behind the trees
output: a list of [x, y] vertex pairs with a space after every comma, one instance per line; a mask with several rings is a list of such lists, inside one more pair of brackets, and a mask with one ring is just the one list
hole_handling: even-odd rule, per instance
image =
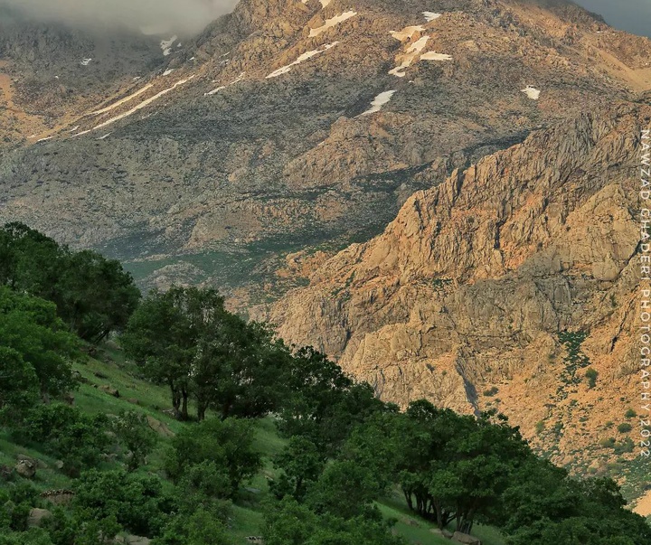
[[193, 38], [3, 24], [0, 221], [143, 287], [218, 285], [384, 399], [500, 409], [642, 493], [616, 427], [651, 41], [561, 0], [242, 0]]

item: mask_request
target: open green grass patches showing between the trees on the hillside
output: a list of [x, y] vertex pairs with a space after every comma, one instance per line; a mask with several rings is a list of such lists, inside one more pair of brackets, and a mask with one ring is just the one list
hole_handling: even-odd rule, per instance
[[[74, 392], [75, 405], [85, 412], [118, 414], [122, 410], [138, 410], [163, 422], [175, 433], [184, 426], [192, 426], [192, 423], [179, 422], [163, 412], [171, 407], [168, 390], [141, 380], [137, 368], [125, 362], [121, 352], [115, 347], [110, 345], [102, 347], [95, 358], [90, 358], [85, 363], [75, 364], [74, 370], [78, 371], [84, 380], [79, 390]], [[119, 397], [101, 390], [101, 386], [118, 390]], [[169, 437], [161, 435], [156, 451], [149, 456], [148, 464], [139, 471], [163, 475], [162, 462], [169, 442]], [[269, 497], [269, 478], [275, 476], [271, 460], [282, 450], [284, 444], [285, 441], [278, 437], [273, 419], [260, 419], [257, 446], [264, 456], [264, 466], [250, 483], [245, 484], [232, 510], [231, 531], [241, 545], [249, 543], [246, 540], [247, 536], [259, 536], [261, 533], [263, 504]], [[0, 465], [14, 465], [18, 454], [33, 456], [47, 465], [47, 468], [38, 470], [33, 480], [33, 484], [39, 489], [61, 489], [71, 486], [71, 480], [56, 469], [56, 460], [42, 454], [38, 445], [29, 448], [14, 445], [10, 437], [0, 431]], [[111, 465], [107, 464], [105, 469], [109, 468]], [[432, 533], [430, 531], [433, 528], [432, 524], [410, 513], [400, 493], [382, 500], [382, 503], [378, 503], [378, 507], [384, 516], [398, 521], [395, 531], [410, 543], [438, 545], [450, 542]], [[499, 533], [492, 528], [477, 526], [473, 533], [486, 545], [505, 544]]]

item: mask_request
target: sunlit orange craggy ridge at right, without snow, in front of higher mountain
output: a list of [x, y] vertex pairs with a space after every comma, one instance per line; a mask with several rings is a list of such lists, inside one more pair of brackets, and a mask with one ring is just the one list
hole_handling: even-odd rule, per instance
[[384, 399], [499, 409], [583, 470], [604, 470], [614, 446], [633, 459], [637, 421], [631, 434], [615, 428], [640, 405], [643, 102], [534, 132], [414, 194], [382, 235], [289, 292], [271, 321]]

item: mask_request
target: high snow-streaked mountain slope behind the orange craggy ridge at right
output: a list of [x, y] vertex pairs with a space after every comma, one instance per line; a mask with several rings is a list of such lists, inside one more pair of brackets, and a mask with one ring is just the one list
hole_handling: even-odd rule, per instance
[[562, 2], [243, 0], [177, 45], [52, 140], [5, 152], [1, 219], [131, 260], [147, 283], [239, 286], [651, 87], [649, 41]]

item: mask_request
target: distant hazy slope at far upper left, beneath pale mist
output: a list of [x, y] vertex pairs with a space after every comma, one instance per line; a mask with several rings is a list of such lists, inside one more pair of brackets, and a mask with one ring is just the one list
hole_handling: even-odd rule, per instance
[[162, 65], [156, 36], [34, 23], [0, 6], [0, 148], [52, 136]]

